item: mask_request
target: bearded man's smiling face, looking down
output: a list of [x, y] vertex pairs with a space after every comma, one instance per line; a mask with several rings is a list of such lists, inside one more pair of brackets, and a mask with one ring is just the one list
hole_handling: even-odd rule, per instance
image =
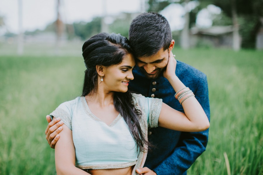
[[158, 53], [149, 57], [139, 57], [136, 64], [149, 79], [155, 79], [161, 75], [167, 66], [169, 52], [161, 48]]

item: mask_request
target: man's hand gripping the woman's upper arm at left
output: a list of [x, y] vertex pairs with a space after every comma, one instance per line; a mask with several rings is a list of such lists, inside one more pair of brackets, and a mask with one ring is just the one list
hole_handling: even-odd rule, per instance
[[55, 145], [59, 139], [58, 133], [62, 131], [63, 121], [60, 121], [60, 118], [54, 118], [51, 121], [51, 117], [49, 115], [46, 116], [46, 120], [49, 122], [48, 126], [46, 127], [46, 140], [49, 143], [51, 148], [55, 148]]

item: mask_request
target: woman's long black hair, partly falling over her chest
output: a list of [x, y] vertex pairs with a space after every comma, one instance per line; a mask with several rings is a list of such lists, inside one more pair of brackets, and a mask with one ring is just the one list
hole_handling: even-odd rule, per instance
[[[100, 33], [91, 37], [83, 44], [82, 52], [87, 68], [85, 71], [82, 96], [86, 96], [90, 92], [95, 92], [97, 88], [98, 74], [96, 65], [108, 67], [114, 64], [120, 64], [125, 55], [134, 55], [129, 40], [115, 33]], [[148, 142], [140, 127], [139, 120], [141, 118], [141, 111], [135, 108], [131, 93], [129, 91], [125, 93], [115, 92], [113, 104], [127, 123], [139, 150], [145, 151], [143, 144], [148, 145]]]

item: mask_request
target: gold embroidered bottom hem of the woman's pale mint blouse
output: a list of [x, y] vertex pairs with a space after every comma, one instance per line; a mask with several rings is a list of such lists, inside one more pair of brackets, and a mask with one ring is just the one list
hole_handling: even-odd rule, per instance
[[76, 164], [75, 167], [79, 169], [113, 169], [113, 168], [127, 168], [130, 166], [135, 165], [137, 160], [133, 162], [127, 163], [117, 163], [117, 164], [101, 164], [101, 165], [78, 165]]

